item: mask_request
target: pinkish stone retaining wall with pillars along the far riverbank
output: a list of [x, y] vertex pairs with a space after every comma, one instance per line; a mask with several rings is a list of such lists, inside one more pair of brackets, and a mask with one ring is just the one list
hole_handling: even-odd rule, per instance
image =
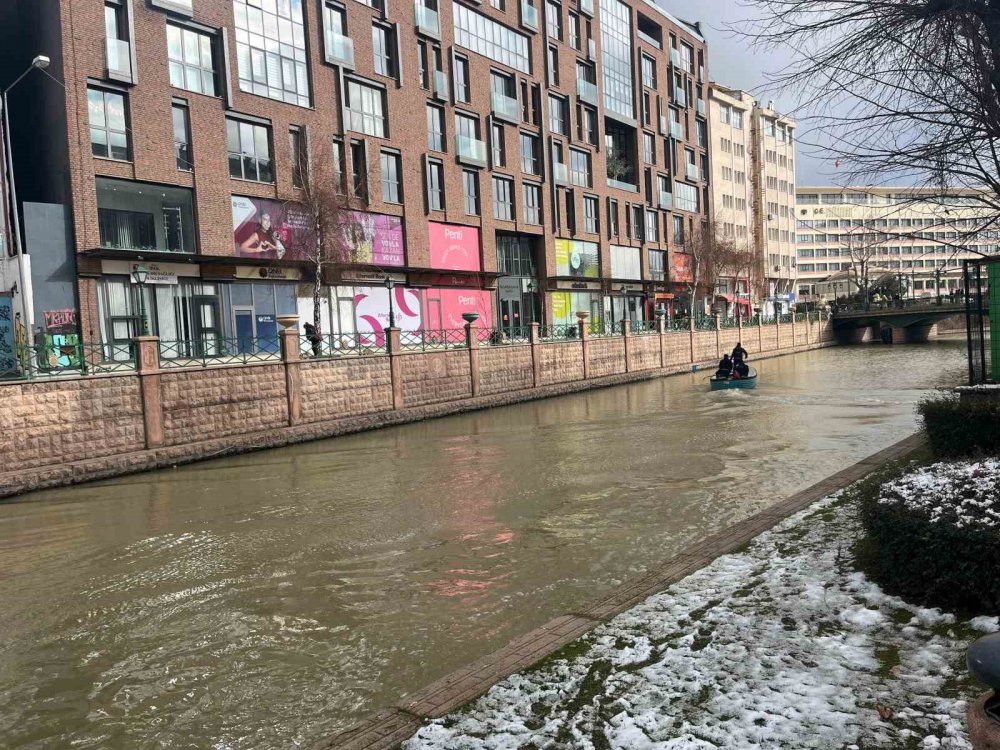
[[829, 320], [559, 341], [535, 325], [526, 344], [407, 353], [396, 331], [388, 353], [301, 360], [282, 335], [282, 360], [161, 370], [142, 338], [134, 373], [0, 384], [0, 497], [686, 372], [740, 339], [758, 357], [834, 343]]

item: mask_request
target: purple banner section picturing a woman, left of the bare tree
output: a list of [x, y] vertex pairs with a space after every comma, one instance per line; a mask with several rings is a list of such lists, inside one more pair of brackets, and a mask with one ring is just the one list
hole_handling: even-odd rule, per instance
[[301, 206], [265, 198], [232, 196], [233, 242], [239, 258], [303, 260], [315, 247]]

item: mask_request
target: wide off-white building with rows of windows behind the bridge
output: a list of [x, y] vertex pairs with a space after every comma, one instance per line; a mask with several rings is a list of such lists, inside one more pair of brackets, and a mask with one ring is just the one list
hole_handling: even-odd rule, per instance
[[969, 191], [799, 188], [799, 295], [829, 300], [866, 279], [873, 287], [895, 280], [895, 293], [910, 296], [947, 294], [961, 288], [963, 259], [997, 252], [992, 215]]

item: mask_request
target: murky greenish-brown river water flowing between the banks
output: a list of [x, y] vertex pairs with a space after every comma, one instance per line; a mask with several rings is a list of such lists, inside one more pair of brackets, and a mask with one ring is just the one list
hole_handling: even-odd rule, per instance
[[308, 746], [912, 432], [962, 343], [762, 361], [0, 504], [0, 747]]

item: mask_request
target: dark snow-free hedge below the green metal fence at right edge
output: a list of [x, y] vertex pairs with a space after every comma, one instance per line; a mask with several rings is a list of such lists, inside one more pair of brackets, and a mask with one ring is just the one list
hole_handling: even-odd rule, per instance
[[921, 401], [917, 411], [936, 456], [1000, 455], [1000, 402], [963, 403], [949, 393]]

